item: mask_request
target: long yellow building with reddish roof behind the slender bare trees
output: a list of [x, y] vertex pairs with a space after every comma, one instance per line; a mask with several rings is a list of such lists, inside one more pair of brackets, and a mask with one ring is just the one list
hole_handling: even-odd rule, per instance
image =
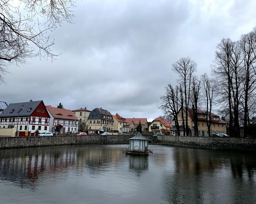
[[[198, 109], [198, 134], [199, 136], [208, 136], [208, 127], [206, 121], [206, 111], [202, 111]], [[183, 111], [184, 114], [184, 123], [186, 126], [186, 112]], [[190, 135], [194, 136], [194, 120], [193, 120], [193, 110], [191, 108], [188, 109], [188, 128], [190, 129]], [[221, 120], [219, 115], [215, 115], [211, 113], [211, 127], [210, 134], [226, 134], [226, 122]], [[182, 111], [178, 112], [178, 124], [182, 128]], [[175, 128], [175, 127], [174, 127]], [[172, 134], [176, 134], [175, 130], [172, 130]], [[183, 131], [180, 131], [181, 135], [183, 135]], [[186, 135], [186, 132], [185, 132]]]

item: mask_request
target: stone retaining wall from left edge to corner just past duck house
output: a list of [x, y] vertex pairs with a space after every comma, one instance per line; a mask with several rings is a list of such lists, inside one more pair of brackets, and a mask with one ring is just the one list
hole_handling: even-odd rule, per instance
[[[87, 136], [37, 136], [0, 137], [0, 148], [37, 147], [51, 145], [75, 145], [88, 143], [128, 143], [131, 135], [87, 135]], [[157, 136], [146, 136], [150, 143], [157, 143]]]

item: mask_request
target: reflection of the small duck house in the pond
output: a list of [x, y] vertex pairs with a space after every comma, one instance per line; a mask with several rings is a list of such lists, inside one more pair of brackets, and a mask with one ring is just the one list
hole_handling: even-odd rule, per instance
[[148, 170], [148, 155], [129, 155], [129, 169], [136, 172], [139, 177], [143, 171]]

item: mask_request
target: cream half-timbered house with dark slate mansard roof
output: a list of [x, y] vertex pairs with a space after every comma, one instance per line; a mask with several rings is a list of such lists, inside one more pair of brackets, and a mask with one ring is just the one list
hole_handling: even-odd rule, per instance
[[106, 109], [95, 108], [89, 114], [86, 126], [89, 130], [98, 130], [105, 132], [114, 130], [113, 115]]

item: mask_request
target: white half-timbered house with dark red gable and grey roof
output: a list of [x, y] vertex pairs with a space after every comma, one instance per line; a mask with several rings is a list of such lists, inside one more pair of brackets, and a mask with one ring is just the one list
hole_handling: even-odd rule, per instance
[[43, 101], [11, 103], [0, 114], [0, 128], [16, 128], [18, 136], [34, 136], [37, 129], [49, 131], [49, 119]]

